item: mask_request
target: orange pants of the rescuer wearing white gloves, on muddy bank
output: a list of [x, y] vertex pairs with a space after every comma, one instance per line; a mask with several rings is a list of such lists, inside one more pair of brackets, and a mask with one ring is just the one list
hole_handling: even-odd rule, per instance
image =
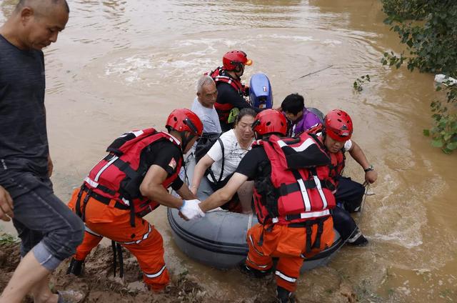
[[[74, 210], [79, 189], [76, 189], [69, 202]], [[84, 192], [82, 201], [86, 196]], [[109, 205], [89, 198], [86, 204], [86, 227], [94, 234], [99, 234], [121, 244], [134, 254], [143, 271], [144, 282], [154, 291], [164, 289], [169, 283], [169, 272], [164, 262], [164, 241], [161, 234], [146, 220], [135, 217], [135, 227], [130, 225], [130, 211], [114, 208], [115, 201]], [[101, 240], [86, 229], [84, 240], [76, 248], [75, 259], [84, 259]], [[98, 242], [96, 242], [98, 240]]]

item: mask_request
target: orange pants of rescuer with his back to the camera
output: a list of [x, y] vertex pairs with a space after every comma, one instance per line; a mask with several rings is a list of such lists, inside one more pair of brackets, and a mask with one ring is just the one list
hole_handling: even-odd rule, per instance
[[[271, 232], [261, 224], [254, 225], [248, 230], [248, 257], [246, 265], [253, 269], [266, 270], [273, 266], [272, 257], [278, 257], [276, 264], [276, 284], [295, 292], [296, 281], [300, 275], [300, 268], [303, 265], [303, 256], [312, 257], [333, 243], [333, 220], [331, 217], [323, 223], [323, 233], [321, 235], [321, 247], [313, 249], [306, 254], [306, 228], [287, 227], [286, 225], [275, 224]], [[316, 240], [317, 224], [312, 226], [312, 243]], [[263, 232], [263, 244], [259, 245]]]

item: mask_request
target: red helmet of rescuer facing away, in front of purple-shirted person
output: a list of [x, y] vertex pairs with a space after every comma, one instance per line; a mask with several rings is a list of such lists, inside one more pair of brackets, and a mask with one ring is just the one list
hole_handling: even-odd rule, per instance
[[276, 109], [261, 111], [257, 114], [256, 121], [254, 121], [253, 131], [260, 135], [278, 133], [286, 136], [286, 117]]

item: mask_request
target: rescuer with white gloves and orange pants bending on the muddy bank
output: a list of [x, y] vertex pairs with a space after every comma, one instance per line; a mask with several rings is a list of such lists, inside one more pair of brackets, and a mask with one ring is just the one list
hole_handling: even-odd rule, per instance
[[[175, 109], [166, 129], [168, 133], [142, 129], [119, 136], [74, 191], [69, 207], [85, 222], [86, 233], [67, 273], [80, 275], [91, 249], [108, 237], [136, 257], [144, 282], [154, 292], [169, 283], [161, 234], [142, 217], [161, 204], [179, 209], [186, 217], [194, 212], [204, 215], [199, 201], [178, 177], [183, 152], [191, 149], [203, 125], [189, 109]], [[169, 194], [169, 187], [184, 200]]]

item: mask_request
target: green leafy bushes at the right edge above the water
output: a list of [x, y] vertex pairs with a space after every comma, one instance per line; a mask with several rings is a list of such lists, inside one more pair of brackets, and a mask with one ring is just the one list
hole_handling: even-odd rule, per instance
[[[387, 19], [406, 44], [406, 51], [398, 56], [384, 53], [383, 65], [398, 69], [406, 62], [408, 70], [418, 69], [433, 74], [457, 78], [457, 1], [455, 0], [381, 0]], [[424, 129], [432, 145], [450, 154], [457, 149], [457, 87], [445, 89], [446, 99], [431, 102], [435, 126]]]

